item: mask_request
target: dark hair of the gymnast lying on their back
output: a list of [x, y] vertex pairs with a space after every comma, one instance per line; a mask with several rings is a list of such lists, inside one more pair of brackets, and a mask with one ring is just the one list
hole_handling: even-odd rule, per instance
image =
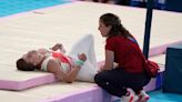
[[34, 65], [27, 63], [22, 58], [17, 60], [17, 68], [21, 71], [33, 71], [36, 69]]

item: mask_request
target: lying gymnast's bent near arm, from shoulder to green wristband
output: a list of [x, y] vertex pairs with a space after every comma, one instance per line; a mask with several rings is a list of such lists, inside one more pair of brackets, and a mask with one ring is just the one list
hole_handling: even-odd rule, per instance
[[68, 83], [71, 83], [75, 80], [80, 68], [81, 67], [75, 65], [70, 73], [64, 73], [63, 71], [61, 71], [61, 65], [59, 61], [57, 61], [55, 59], [51, 59], [48, 62], [48, 72], [52, 72], [58, 80], [62, 80], [63, 82]]

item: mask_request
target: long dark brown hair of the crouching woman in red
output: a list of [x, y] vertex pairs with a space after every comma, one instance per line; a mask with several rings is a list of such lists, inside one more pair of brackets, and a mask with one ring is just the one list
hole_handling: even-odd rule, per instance
[[111, 30], [108, 37], [123, 35], [131, 37], [130, 32], [121, 24], [121, 20], [113, 13], [104, 13], [100, 17], [100, 21], [107, 27], [111, 26]]

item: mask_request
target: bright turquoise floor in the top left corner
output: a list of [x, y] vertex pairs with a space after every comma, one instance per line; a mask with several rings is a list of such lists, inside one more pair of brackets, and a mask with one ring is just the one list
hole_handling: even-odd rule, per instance
[[30, 11], [34, 9], [52, 7], [69, 2], [67, 0], [0, 0], [0, 18]]

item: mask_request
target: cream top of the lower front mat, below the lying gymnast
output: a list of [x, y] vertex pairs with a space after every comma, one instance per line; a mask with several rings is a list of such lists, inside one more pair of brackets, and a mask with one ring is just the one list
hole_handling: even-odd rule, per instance
[[[94, 88], [93, 83], [74, 82], [72, 84], [57, 82], [23, 91], [0, 90], [0, 100], [4, 102], [42, 102], [58, 96], [64, 96]], [[14, 101], [16, 100], [16, 101]]]

